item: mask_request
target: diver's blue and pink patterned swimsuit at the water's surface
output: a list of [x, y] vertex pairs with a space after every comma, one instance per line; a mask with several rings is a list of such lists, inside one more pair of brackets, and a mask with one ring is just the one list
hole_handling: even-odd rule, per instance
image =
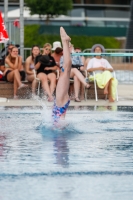
[[56, 101], [54, 101], [53, 111], [52, 111], [52, 118], [54, 122], [58, 122], [60, 117], [66, 113], [66, 110], [70, 104], [70, 100], [63, 107], [58, 107], [56, 105]]

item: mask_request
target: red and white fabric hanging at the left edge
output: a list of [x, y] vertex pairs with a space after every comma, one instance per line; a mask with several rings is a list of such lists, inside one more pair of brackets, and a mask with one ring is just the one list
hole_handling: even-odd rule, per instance
[[2, 18], [2, 13], [0, 12], [0, 43], [5, 43], [9, 40], [8, 33]]

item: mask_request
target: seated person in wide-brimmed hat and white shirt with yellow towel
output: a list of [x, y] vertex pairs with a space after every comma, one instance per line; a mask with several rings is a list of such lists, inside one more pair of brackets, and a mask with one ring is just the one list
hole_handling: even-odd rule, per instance
[[[101, 53], [104, 52], [105, 49], [101, 44], [95, 44], [92, 47], [92, 53]], [[116, 95], [116, 87], [117, 87], [117, 80], [113, 78], [112, 73], [113, 68], [109, 64], [109, 62], [102, 58], [102, 56], [95, 56], [94, 58], [90, 59], [87, 65], [87, 71], [96, 73], [96, 82], [99, 88], [104, 88], [104, 94], [109, 95], [109, 101], [115, 101]], [[89, 77], [90, 81], [94, 80], [94, 76]]]

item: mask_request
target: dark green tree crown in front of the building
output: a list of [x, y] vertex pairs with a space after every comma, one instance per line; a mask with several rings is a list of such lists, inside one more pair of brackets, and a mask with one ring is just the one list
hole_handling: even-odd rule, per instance
[[31, 15], [38, 14], [40, 19], [46, 15], [46, 21], [58, 15], [67, 14], [72, 9], [72, 0], [25, 0]]

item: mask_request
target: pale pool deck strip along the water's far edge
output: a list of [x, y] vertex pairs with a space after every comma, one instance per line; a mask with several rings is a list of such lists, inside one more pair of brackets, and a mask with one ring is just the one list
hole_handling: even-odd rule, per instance
[[[95, 101], [94, 99], [88, 99], [87, 101], [75, 102], [71, 100], [70, 106], [133, 106], [133, 85], [118, 85], [119, 101], [110, 103], [108, 100]], [[47, 106], [52, 106], [53, 102], [45, 102]], [[0, 106], [41, 106], [41, 102], [32, 99], [7, 99], [5, 102], [0, 101]]]

